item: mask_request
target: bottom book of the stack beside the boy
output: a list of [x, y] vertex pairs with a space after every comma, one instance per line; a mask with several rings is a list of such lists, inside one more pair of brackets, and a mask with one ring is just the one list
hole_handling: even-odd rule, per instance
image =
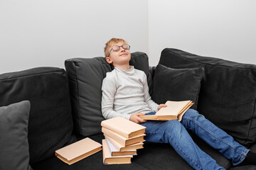
[[103, 164], [131, 164], [132, 155], [112, 156], [106, 140], [102, 140]]

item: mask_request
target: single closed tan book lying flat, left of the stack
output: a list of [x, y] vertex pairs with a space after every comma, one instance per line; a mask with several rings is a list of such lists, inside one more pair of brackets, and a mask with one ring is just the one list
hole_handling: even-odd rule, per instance
[[83, 140], [56, 150], [55, 156], [66, 164], [70, 165], [84, 159], [85, 157], [89, 157], [100, 150], [102, 150], [102, 145], [87, 137]]

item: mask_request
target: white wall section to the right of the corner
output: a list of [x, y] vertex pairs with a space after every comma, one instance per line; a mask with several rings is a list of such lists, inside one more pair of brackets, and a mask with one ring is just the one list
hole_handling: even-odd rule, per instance
[[165, 47], [256, 64], [255, 0], [149, 0], [149, 57]]

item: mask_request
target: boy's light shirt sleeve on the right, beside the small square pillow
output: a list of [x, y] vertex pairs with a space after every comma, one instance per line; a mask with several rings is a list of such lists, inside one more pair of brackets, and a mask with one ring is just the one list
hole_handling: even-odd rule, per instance
[[149, 95], [149, 86], [146, 81], [146, 74], [143, 75], [143, 93], [144, 93], [144, 100], [148, 104], [149, 108], [152, 111], [158, 111], [158, 104], [151, 100], [151, 96]]

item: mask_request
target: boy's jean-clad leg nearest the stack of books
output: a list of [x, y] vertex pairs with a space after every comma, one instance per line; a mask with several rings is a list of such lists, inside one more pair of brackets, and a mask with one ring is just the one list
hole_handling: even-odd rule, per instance
[[147, 142], [170, 143], [194, 169], [223, 169], [193, 142], [186, 128], [178, 120], [149, 120], [141, 125], [146, 126]]

